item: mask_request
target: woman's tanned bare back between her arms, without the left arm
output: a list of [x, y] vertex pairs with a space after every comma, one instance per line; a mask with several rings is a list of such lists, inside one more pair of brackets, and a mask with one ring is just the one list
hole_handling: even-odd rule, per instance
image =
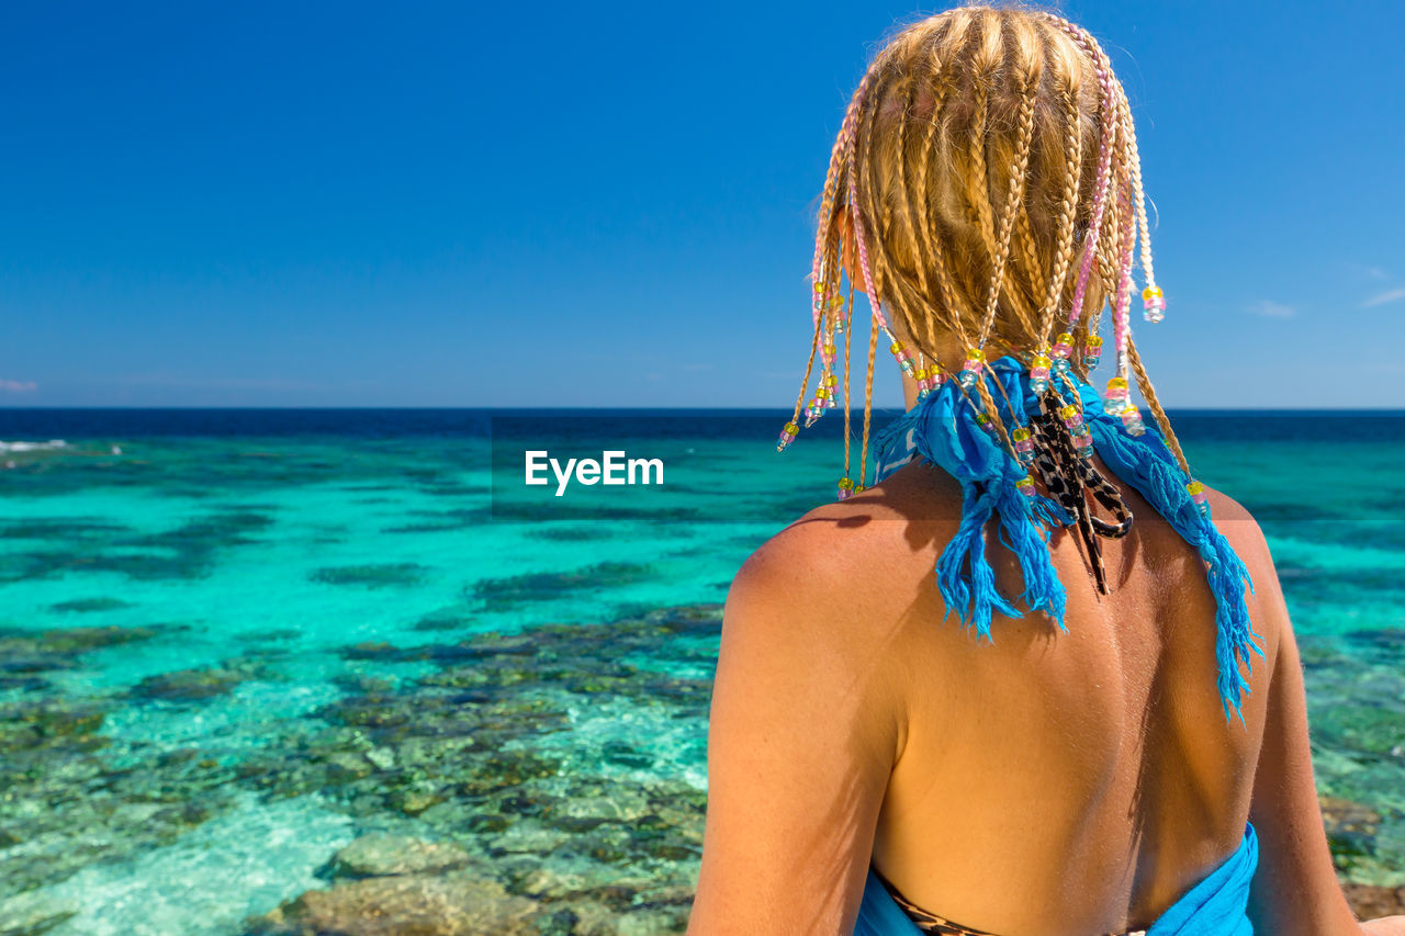
[[[875, 524], [864, 565], [908, 698], [873, 863], [924, 909], [996, 933], [1139, 929], [1243, 836], [1284, 621], [1249, 599], [1266, 658], [1253, 658], [1245, 724], [1227, 721], [1204, 564], [1120, 486], [1135, 521], [1100, 541], [1113, 593], [1097, 594], [1076, 537], [1058, 531], [1068, 632], [1043, 614], [996, 617], [993, 645], [954, 616], [939, 625], [932, 569], [960, 516], [955, 482], [909, 465], [873, 496], [875, 517], [902, 520]], [[1257, 528], [1238, 505], [1215, 507], [1253, 569], [1262, 547], [1241, 534]], [[988, 547], [998, 587], [1017, 594], [1014, 557], [993, 533]]]

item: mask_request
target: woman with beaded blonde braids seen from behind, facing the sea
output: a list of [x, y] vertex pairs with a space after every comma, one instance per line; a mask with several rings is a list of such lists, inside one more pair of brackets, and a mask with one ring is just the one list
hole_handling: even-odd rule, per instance
[[[871, 318], [857, 475], [846, 443], [840, 502], [728, 594], [693, 936], [1405, 933], [1336, 883], [1273, 561], [1156, 401], [1134, 259], [1159, 320], [1131, 115], [1085, 31], [962, 7], [884, 48], [778, 444], [802, 408], [847, 430]], [[870, 486], [880, 343], [908, 415]]]

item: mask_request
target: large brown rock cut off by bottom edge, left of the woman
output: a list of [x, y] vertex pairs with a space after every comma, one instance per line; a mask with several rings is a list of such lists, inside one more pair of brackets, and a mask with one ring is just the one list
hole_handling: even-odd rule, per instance
[[371, 877], [308, 891], [254, 921], [249, 936], [528, 936], [538, 904], [497, 881], [450, 873]]

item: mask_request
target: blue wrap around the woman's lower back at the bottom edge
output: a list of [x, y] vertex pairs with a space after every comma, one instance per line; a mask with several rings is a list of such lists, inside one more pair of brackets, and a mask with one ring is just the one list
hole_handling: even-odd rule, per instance
[[[1259, 867], [1259, 836], [1253, 824], [1243, 826], [1243, 839], [1234, 854], [1207, 874], [1162, 914], [1146, 936], [1253, 936], [1246, 908], [1249, 884]], [[926, 908], [940, 914], [941, 908]], [[962, 921], [957, 921], [958, 923]], [[878, 880], [873, 866], [864, 883], [863, 901], [853, 936], [922, 936]]]

